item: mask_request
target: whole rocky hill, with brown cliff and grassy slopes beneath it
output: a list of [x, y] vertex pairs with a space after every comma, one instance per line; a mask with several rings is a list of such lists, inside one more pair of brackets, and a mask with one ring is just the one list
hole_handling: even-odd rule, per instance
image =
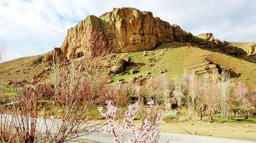
[[[104, 58], [100, 54], [107, 54]], [[67, 30], [61, 47], [35, 57], [0, 63], [1, 84], [38, 83], [53, 76], [53, 63], [64, 67], [86, 54], [104, 61], [102, 71], [111, 82], [139, 82], [184, 71], [206, 75], [228, 69], [233, 82], [256, 86], [255, 43], [230, 43], [214, 39], [212, 33], [198, 36], [175, 24], [134, 8], [113, 9], [99, 17], [88, 16]]]

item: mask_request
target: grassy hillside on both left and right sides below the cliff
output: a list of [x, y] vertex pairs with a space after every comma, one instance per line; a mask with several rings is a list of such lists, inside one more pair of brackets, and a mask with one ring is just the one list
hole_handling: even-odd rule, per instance
[[[109, 57], [118, 60], [122, 54], [110, 54]], [[198, 47], [187, 47], [184, 43], [165, 43], [157, 46], [156, 49], [140, 52], [129, 52], [127, 55], [132, 59], [132, 64], [126, 66], [124, 71], [118, 74], [113, 74], [110, 79], [113, 82], [119, 79], [126, 81], [134, 80], [136, 77], [150, 77], [159, 74], [167, 74], [168, 77], [179, 77], [184, 71], [193, 72], [189, 68], [203, 63], [205, 59], [211, 62], [210, 65], [217, 65], [216, 69], [230, 69], [233, 82], [243, 82], [252, 87], [256, 87], [256, 64], [242, 60], [230, 55], [219, 54], [218, 52], [201, 49]], [[53, 68], [49, 63], [39, 63], [33, 65], [32, 62], [37, 60], [42, 55], [34, 57], [19, 58], [17, 60], [1, 63], [0, 73], [1, 84], [7, 84], [10, 81], [34, 82], [41, 77], [47, 77], [53, 74]], [[201, 58], [203, 57], [203, 58]], [[107, 58], [109, 59], [109, 58]], [[115, 60], [107, 60], [105, 63], [110, 63], [109, 68], [104, 71], [110, 71], [115, 64]], [[206, 73], [211, 71], [205, 68], [206, 65], [198, 66]], [[218, 69], [219, 68], [219, 69]], [[137, 73], [130, 74], [130, 71], [135, 70]], [[194, 70], [196, 72], [196, 70]], [[196, 72], [197, 74], [197, 72]], [[198, 73], [201, 75], [200, 73]], [[39, 77], [39, 78], [38, 78]]]

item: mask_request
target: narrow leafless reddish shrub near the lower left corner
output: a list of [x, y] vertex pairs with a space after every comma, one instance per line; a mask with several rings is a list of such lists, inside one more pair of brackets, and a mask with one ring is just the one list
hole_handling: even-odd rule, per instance
[[17, 90], [19, 100], [13, 105], [14, 127], [20, 142], [37, 142], [37, 117], [39, 111], [38, 90], [32, 85]]

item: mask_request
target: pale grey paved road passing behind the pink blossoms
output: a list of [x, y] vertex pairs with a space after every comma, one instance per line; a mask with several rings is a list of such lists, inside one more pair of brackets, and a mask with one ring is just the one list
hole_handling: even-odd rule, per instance
[[[130, 137], [130, 134], [128, 134]], [[179, 134], [162, 132], [159, 142], [164, 143], [170, 138], [170, 143], [255, 143], [253, 141], [244, 141], [238, 139], [216, 138], [211, 136], [198, 136], [193, 134]], [[87, 139], [94, 142], [110, 143], [113, 142], [113, 135], [103, 133], [92, 133], [88, 136], [82, 136], [79, 139]]]

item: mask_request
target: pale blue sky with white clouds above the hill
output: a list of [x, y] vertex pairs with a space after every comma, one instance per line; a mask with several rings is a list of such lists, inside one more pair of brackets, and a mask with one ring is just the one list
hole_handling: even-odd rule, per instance
[[4, 61], [61, 47], [67, 29], [113, 8], [150, 11], [193, 35], [211, 32], [225, 41], [256, 41], [255, 0], [0, 0]]

